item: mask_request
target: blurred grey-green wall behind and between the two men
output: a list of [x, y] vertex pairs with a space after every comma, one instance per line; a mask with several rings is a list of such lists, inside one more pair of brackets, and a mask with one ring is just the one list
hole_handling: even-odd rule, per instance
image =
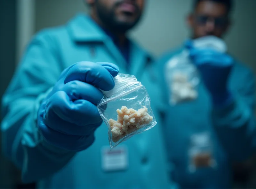
[[[185, 23], [193, 0], [147, 0], [140, 25], [131, 35], [155, 55], [180, 45], [188, 36]], [[256, 0], [235, 0], [233, 26], [226, 37], [229, 51], [256, 72]], [[36, 27], [64, 24], [78, 11], [88, 12], [83, 0], [36, 0]]]

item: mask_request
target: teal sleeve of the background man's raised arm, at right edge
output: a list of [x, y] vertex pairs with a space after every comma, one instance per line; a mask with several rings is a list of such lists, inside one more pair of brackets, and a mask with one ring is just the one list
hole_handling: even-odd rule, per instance
[[217, 136], [231, 160], [248, 158], [256, 147], [255, 78], [247, 72], [240, 79], [242, 87], [232, 104], [213, 110], [212, 121]]

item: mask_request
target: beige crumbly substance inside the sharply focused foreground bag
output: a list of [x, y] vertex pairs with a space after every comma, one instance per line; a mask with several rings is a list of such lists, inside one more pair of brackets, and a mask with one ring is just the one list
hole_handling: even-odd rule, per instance
[[149, 124], [153, 117], [148, 114], [148, 108], [134, 110], [128, 109], [126, 106], [122, 106], [121, 110], [117, 109], [117, 121], [109, 119], [108, 123], [112, 132], [113, 142], [117, 142], [127, 134], [137, 130], [142, 125]]

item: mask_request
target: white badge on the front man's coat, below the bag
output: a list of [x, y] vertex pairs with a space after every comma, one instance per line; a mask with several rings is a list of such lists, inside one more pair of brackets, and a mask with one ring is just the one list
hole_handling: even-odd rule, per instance
[[109, 146], [101, 149], [101, 167], [106, 172], [122, 171], [128, 168], [128, 149], [125, 146]]

